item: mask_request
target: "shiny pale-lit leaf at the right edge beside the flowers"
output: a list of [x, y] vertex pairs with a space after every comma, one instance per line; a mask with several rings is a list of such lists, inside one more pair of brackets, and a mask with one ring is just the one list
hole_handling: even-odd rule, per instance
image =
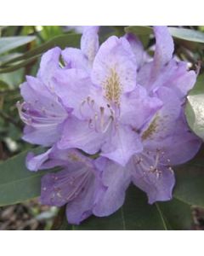
[[187, 99], [185, 115], [190, 129], [204, 140], [204, 74], [198, 77]]

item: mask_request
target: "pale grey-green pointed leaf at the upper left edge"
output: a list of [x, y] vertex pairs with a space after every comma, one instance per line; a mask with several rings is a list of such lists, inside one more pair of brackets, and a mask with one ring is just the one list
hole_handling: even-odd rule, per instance
[[5, 37], [0, 38], [0, 54], [7, 52], [8, 50], [15, 49], [21, 45], [28, 44], [35, 40], [36, 37]]

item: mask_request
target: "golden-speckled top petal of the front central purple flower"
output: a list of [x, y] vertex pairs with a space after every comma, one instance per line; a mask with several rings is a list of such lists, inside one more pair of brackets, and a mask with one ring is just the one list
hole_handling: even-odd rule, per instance
[[[113, 94], [133, 90], [136, 85], [136, 59], [125, 38], [108, 38], [94, 59], [92, 80], [94, 84]], [[113, 88], [114, 87], [114, 88]]]

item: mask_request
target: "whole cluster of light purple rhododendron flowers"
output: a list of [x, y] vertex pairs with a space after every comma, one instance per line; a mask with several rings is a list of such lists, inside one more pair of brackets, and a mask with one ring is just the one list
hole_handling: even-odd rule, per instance
[[23, 139], [48, 147], [28, 154], [28, 169], [61, 167], [42, 177], [41, 202], [66, 205], [71, 224], [116, 212], [130, 183], [150, 204], [170, 200], [172, 167], [201, 146], [184, 119], [196, 75], [173, 58], [167, 27], [154, 27], [153, 58], [131, 34], [99, 46], [98, 30], [84, 28], [81, 49], [55, 47], [42, 55], [18, 103]]

